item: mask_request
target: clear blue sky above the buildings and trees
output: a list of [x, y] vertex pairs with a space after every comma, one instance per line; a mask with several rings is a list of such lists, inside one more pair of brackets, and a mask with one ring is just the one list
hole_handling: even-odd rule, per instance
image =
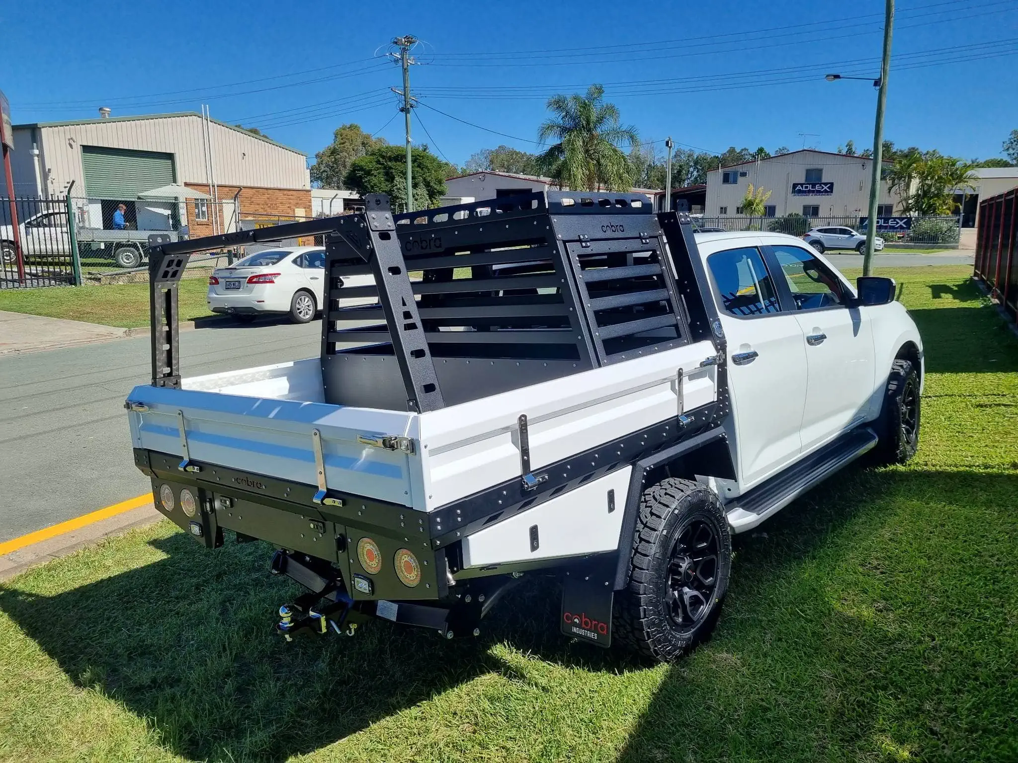
[[[207, 103], [217, 119], [314, 155], [344, 122], [402, 142], [388, 90], [400, 74], [385, 54], [409, 34], [423, 41], [413, 138], [457, 164], [502, 142], [539, 150], [528, 140], [547, 98], [590, 82], [606, 84], [643, 140], [671, 134], [712, 152], [871, 144], [874, 90], [824, 74], [879, 73], [883, 2], [658, 6], [8, 2], [0, 90], [15, 123]], [[1018, 2], [902, 0], [894, 54], [885, 137], [1001, 156], [1018, 128]]]

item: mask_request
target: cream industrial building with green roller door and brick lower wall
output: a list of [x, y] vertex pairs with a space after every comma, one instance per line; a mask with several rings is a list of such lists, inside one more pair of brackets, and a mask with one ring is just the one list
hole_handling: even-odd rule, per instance
[[191, 236], [312, 216], [303, 154], [193, 112], [14, 125], [11, 174], [17, 196], [69, 191], [88, 227], [119, 203], [128, 227]]

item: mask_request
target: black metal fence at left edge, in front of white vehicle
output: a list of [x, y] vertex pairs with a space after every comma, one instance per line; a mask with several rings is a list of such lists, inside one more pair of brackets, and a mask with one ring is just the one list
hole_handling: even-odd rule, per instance
[[0, 197], [0, 289], [80, 283], [68, 215], [66, 198]]

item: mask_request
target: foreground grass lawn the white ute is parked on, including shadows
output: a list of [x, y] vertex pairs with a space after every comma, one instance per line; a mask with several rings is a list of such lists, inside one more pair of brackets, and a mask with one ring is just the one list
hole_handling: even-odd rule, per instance
[[540, 578], [477, 639], [287, 644], [269, 547], [164, 522], [0, 586], [0, 760], [1018, 760], [1018, 342], [970, 271], [882, 271], [926, 344], [917, 456], [737, 536], [682, 662], [566, 642]]

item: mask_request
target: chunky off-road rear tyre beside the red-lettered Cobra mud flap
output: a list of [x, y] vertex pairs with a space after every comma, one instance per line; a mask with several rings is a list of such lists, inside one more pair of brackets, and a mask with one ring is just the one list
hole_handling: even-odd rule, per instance
[[[704, 551], [713, 553], [679, 554], [677, 561], [680, 541], [688, 540], [690, 534], [695, 535], [693, 540], [702, 541], [704, 530], [714, 542]], [[614, 636], [623, 646], [661, 662], [678, 659], [710, 636], [728, 590], [732, 538], [717, 494], [698, 482], [673, 477], [648, 488], [640, 497], [629, 552], [629, 581], [615, 596]], [[694, 557], [699, 562], [692, 562]], [[698, 617], [690, 620], [686, 615], [692, 610], [675, 600], [673, 586], [688, 579], [690, 586], [697, 583], [703, 588], [704, 578], [713, 581], [710, 596], [700, 593], [703, 605]], [[696, 597], [683, 596], [683, 600], [695, 602]], [[676, 604], [685, 626], [676, 621]]]

